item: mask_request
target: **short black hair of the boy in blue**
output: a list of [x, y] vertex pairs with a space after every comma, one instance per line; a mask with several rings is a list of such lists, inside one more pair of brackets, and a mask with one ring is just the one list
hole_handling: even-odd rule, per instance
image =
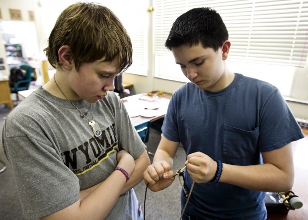
[[210, 7], [199, 7], [175, 20], [165, 47], [172, 50], [183, 45], [191, 47], [202, 43], [204, 48], [217, 51], [228, 38], [228, 30], [220, 14]]

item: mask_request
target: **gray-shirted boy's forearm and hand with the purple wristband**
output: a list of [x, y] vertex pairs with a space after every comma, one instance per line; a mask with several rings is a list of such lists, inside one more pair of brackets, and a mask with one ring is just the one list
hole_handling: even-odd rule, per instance
[[127, 182], [127, 175], [132, 175], [135, 170], [134, 158], [125, 150], [116, 154], [118, 166], [121, 170], [114, 170], [107, 179], [85, 191], [80, 191], [80, 198], [72, 205], [57, 211], [43, 220], [100, 220], [105, 219], [116, 204]]

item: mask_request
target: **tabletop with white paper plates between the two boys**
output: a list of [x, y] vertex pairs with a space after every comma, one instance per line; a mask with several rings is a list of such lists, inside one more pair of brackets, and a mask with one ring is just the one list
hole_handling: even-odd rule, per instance
[[[140, 98], [142, 98], [145, 94], [153, 95], [155, 98], [152, 101], [141, 100]], [[147, 121], [154, 122], [160, 118], [163, 118], [167, 112], [170, 98], [170, 93], [152, 91], [149, 93], [141, 93], [125, 97], [122, 99], [122, 102], [124, 103], [127, 112], [130, 115], [131, 122], [135, 127]], [[147, 113], [154, 114], [152, 116], [151, 114], [147, 115]]]

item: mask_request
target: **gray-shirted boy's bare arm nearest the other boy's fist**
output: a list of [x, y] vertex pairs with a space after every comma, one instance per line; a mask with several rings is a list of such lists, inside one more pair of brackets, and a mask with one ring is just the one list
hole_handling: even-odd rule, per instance
[[143, 173], [147, 169], [147, 167], [151, 164], [150, 158], [148, 156], [147, 151], [144, 151], [136, 160], [135, 160], [135, 170], [130, 176], [130, 179], [126, 182], [122, 193], [124, 194], [138, 183], [143, 180]]

